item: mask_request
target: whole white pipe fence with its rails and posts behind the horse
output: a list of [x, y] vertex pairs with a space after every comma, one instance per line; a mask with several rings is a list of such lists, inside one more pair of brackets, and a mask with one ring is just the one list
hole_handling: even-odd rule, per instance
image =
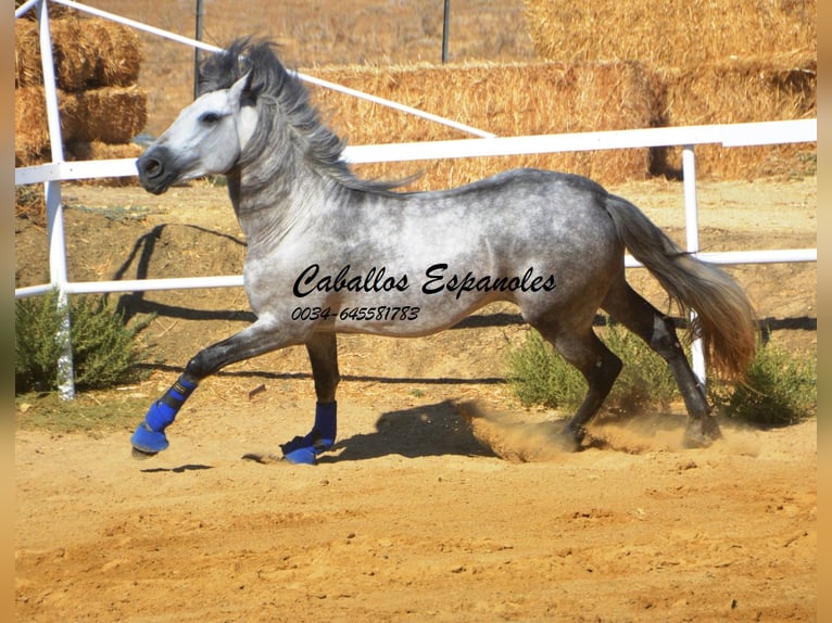
[[[194, 39], [167, 33], [133, 20], [127, 20], [112, 13], [86, 7], [73, 0], [50, 0], [106, 17], [128, 26], [142, 29], [175, 41], [194, 46], [203, 50], [218, 51]], [[67, 277], [65, 241], [63, 231], [63, 207], [61, 204], [61, 181], [89, 179], [99, 177], [128, 177], [136, 175], [135, 161], [131, 158], [110, 161], [64, 162], [58, 112], [58, 97], [54, 82], [54, 72], [51, 56], [51, 37], [49, 34], [49, 16], [46, 0], [30, 0], [15, 11], [20, 16], [27, 10], [36, 9], [40, 20], [41, 55], [43, 60], [43, 77], [49, 112], [50, 138], [52, 141], [51, 163], [21, 167], [15, 169], [15, 185], [43, 183], [46, 188], [48, 234], [50, 249], [50, 280], [48, 284], [20, 288], [15, 297], [42, 294], [53, 288], [60, 291], [59, 300], [65, 302], [68, 294], [130, 292], [149, 290], [180, 290], [189, 288], [228, 288], [243, 284], [242, 276], [192, 277], [175, 279], [139, 279], [119, 281], [72, 282]], [[698, 209], [696, 203], [696, 166], [695, 145], [720, 144], [724, 148], [744, 145], [764, 145], [798, 142], [817, 142], [817, 119], [801, 119], [786, 122], [764, 122], [752, 124], [707, 125], [670, 128], [646, 128], [633, 130], [598, 131], [564, 135], [544, 135], [526, 137], [496, 138], [493, 135], [471, 128], [456, 122], [444, 119], [423, 111], [403, 106], [374, 96], [345, 89], [331, 82], [318, 80], [311, 76], [300, 75], [301, 78], [327, 88], [337, 88], [350, 94], [369, 99], [377, 103], [451, 125], [461, 130], [479, 137], [478, 139], [432, 141], [421, 143], [395, 143], [357, 145], [346, 148], [344, 155], [352, 163], [401, 162], [419, 160], [441, 160], [458, 157], [505, 156], [520, 154], [540, 154], [570, 151], [594, 151], [610, 149], [645, 149], [656, 147], [682, 147], [683, 193], [685, 208], [685, 232], [688, 251], [697, 257], [716, 264], [765, 264], [791, 262], [817, 262], [817, 249], [791, 249], [768, 251], [738, 251], [720, 253], [699, 253], [698, 246]], [[631, 256], [626, 257], [628, 267], [640, 266]], [[68, 349], [68, 317], [67, 333], [63, 335], [67, 349], [62, 357], [61, 396], [71, 398], [74, 395], [72, 380], [72, 353]], [[694, 370], [701, 379], [705, 379], [705, 366], [701, 348], [694, 343]]]

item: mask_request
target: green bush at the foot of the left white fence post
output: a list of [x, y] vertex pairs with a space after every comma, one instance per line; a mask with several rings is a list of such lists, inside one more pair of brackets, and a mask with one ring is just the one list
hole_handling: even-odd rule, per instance
[[[136, 338], [152, 318], [125, 325], [122, 314], [102, 297], [79, 296], [70, 303], [75, 384], [104, 389], [141, 379], [138, 364], [146, 359]], [[15, 393], [58, 387], [56, 335], [62, 317], [58, 292], [15, 302]]]

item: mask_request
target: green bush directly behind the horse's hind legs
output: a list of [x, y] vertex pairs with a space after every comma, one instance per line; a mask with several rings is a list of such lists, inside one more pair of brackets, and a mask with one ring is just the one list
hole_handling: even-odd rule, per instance
[[[640, 338], [616, 325], [600, 336], [623, 361], [606, 400], [608, 407], [634, 411], [652, 405], [666, 406], [679, 395], [665, 360]], [[508, 370], [508, 382], [526, 406], [575, 409], [587, 394], [583, 376], [534, 330], [529, 331], [522, 345], [509, 352]]]

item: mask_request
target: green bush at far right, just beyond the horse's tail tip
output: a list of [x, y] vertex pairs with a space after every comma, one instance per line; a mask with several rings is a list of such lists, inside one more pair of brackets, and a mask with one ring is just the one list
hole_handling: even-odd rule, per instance
[[795, 424], [818, 408], [817, 361], [780, 346], [757, 344], [745, 383], [711, 382], [708, 393], [720, 415], [757, 424]]

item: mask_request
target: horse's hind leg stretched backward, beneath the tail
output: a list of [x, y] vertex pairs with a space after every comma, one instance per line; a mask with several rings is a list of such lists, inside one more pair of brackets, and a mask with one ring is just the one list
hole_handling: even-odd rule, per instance
[[707, 446], [719, 438], [719, 424], [711, 416], [705, 389], [688, 363], [672, 320], [630, 288], [623, 277], [610, 288], [602, 308], [644, 340], [667, 361], [691, 416], [685, 432], [686, 445]]

